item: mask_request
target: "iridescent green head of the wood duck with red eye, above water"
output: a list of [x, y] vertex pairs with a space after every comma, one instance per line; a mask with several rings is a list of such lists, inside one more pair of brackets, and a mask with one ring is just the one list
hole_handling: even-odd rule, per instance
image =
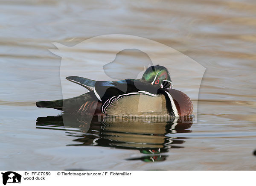
[[172, 88], [173, 86], [169, 71], [160, 65], [148, 67], [142, 79], [155, 86], [159, 85], [161, 88]]

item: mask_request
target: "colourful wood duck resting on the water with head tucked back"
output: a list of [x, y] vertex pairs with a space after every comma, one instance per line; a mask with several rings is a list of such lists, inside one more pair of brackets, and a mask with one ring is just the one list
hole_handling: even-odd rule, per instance
[[36, 102], [37, 107], [112, 116], [178, 117], [193, 112], [189, 96], [172, 88], [169, 71], [160, 65], [148, 67], [142, 79], [94, 81], [78, 76], [66, 79], [90, 91], [70, 99]]

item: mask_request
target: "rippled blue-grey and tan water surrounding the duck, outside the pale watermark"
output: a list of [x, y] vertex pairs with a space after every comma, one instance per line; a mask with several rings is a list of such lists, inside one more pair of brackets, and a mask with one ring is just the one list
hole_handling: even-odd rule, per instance
[[[6, 0], [0, 7], [0, 169], [256, 169], [254, 1]], [[175, 129], [96, 121], [66, 130], [58, 110], [36, 108], [62, 99], [61, 58], [51, 43], [105, 34], [148, 38], [203, 65], [198, 122]], [[176, 87], [189, 93], [189, 81]]]

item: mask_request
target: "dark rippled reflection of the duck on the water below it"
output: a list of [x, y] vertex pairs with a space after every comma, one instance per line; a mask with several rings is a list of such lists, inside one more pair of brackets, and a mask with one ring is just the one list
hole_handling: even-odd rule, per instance
[[[63, 122], [65, 120], [65, 125]], [[172, 118], [172, 121], [157, 122], [151, 119], [134, 121], [127, 117], [85, 116], [64, 113], [61, 116], [39, 117], [36, 128], [66, 130], [69, 136], [76, 136], [74, 146], [90, 145], [110, 148], [139, 150], [141, 157], [126, 160], [145, 162], [164, 161], [171, 148], [183, 148], [186, 138], [167, 137], [167, 134], [186, 133], [192, 125], [192, 116]]]

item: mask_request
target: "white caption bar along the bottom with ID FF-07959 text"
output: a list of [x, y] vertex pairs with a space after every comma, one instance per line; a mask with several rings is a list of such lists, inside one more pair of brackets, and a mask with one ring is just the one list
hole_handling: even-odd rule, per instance
[[1, 171], [0, 185], [254, 185], [255, 171]]

